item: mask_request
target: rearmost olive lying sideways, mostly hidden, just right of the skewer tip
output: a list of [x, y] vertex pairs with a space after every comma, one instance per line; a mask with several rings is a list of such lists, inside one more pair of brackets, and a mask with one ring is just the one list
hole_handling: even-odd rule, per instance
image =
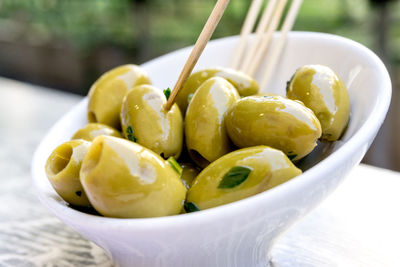
[[189, 76], [176, 97], [176, 103], [183, 114], [185, 114], [190, 98], [196, 92], [197, 88], [212, 77], [226, 79], [236, 88], [241, 96], [254, 95], [259, 90], [257, 81], [243, 72], [221, 67], [200, 70]]

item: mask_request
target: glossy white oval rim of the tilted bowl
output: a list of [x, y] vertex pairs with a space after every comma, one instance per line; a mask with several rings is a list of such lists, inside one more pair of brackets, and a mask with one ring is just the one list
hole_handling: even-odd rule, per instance
[[[275, 33], [279, 34], [279, 33]], [[225, 42], [230, 39], [238, 39], [239, 36], [229, 36], [220, 39], [215, 39], [212, 41], [214, 45], [218, 45], [222, 42]], [[91, 225], [95, 228], [99, 227], [102, 228], [103, 225], [107, 225], [107, 228], [129, 228], [131, 229], [134, 227], [137, 230], [151, 230], [155, 231], [156, 228], [166, 228], [166, 227], [181, 227], [182, 225], [187, 225], [190, 223], [193, 224], [202, 224], [206, 221], [209, 221], [209, 218], [214, 217], [214, 219], [218, 217], [227, 217], [234, 214], [240, 213], [240, 211], [246, 210], [250, 207], [254, 207], [259, 203], [273, 200], [274, 198], [279, 198], [279, 195], [286, 195], [291, 191], [296, 191], [301, 185], [308, 184], [316, 179], [319, 178], [318, 173], [326, 171], [327, 169], [333, 168], [332, 166], [337, 166], [337, 163], [341, 161], [341, 158], [349, 157], [353, 151], [357, 148], [361, 148], [366, 141], [372, 139], [373, 135], [379, 129], [380, 125], [383, 123], [385, 118], [386, 112], [389, 108], [390, 99], [391, 99], [391, 90], [392, 84], [390, 80], [389, 73], [383, 64], [383, 62], [379, 59], [379, 57], [373, 53], [370, 49], [365, 47], [364, 45], [353, 41], [351, 39], [341, 37], [334, 34], [328, 33], [319, 33], [319, 32], [306, 32], [306, 31], [295, 31], [290, 32], [288, 34], [288, 38], [310, 38], [310, 39], [325, 39], [328, 41], [335, 41], [341, 42], [348, 46], [355, 47], [362, 51], [366, 56], [370, 58], [373, 62], [374, 66], [376, 66], [376, 70], [379, 71], [379, 77], [382, 77], [382, 84], [380, 88], [382, 91], [378, 94], [379, 97], [376, 100], [376, 104], [373, 107], [371, 114], [368, 118], [363, 122], [361, 127], [354, 133], [352, 137], [346, 141], [346, 145], [339, 147], [336, 151], [330, 154], [327, 158], [321, 160], [318, 164], [313, 166], [312, 168], [308, 169], [301, 175], [297, 176], [294, 179], [291, 179], [288, 182], [285, 182], [284, 185], [280, 185], [259, 193], [257, 195], [238, 200], [232, 203], [228, 203], [222, 206], [201, 210], [198, 212], [193, 213], [186, 213], [186, 214], [178, 214], [172, 216], [164, 216], [164, 217], [153, 217], [153, 218], [112, 218], [112, 217], [102, 217], [98, 215], [87, 214], [75, 209], [72, 209], [62, 203], [62, 201], [58, 199], [54, 199], [49, 197], [41, 190], [41, 186], [39, 185], [38, 179], [43, 179], [40, 177], [38, 168], [43, 166], [38, 166], [38, 162], [40, 162], [40, 151], [42, 149], [43, 143], [48, 137], [50, 136], [53, 129], [58, 127], [58, 124], [63, 121], [65, 117], [70, 116], [71, 113], [75, 111], [75, 109], [79, 105], [84, 105], [87, 103], [87, 97], [81, 100], [77, 105], [75, 105], [71, 110], [69, 110], [64, 116], [62, 116], [56, 124], [52, 126], [52, 128], [47, 132], [44, 136], [40, 144], [38, 145], [33, 159], [31, 163], [31, 175], [33, 177], [33, 183], [36, 188], [36, 195], [48, 209], [50, 209], [56, 216], [59, 216], [58, 213], [63, 213], [63, 216], [73, 217], [74, 220], [83, 221], [87, 225]], [[171, 53], [162, 55], [146, 63], [142, 64], [142, 67], [145, 67], [148, 64], [151, 64], [155, 60], [160, 60], [163, 57], [173, 56], [174, 54], [181, 53], [184, 50], [190, 49], [192, 46], [181, 48], [175, 50]], [[329, 160], [328, 160], [329, 159]], [[332, 162], [336, 164], [332, 164]], [[57, 210], [57, 211], [56, 211]], [[63, 217], [59, 216], [59, 217]]]

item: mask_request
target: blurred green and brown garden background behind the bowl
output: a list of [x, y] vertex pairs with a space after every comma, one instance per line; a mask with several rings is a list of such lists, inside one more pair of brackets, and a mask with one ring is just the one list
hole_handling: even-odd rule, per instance
[[[0, 0], [0, 76], [85, 95], [106, 70], [192, 45], [215, 0]], [[238, 34], [250, 0], [231, 0], [213, 38]], [[304, 0], [294, 30], [375, 51], [392, 107], [365, 161], [400, 170], [400, 1]], [[1, 90], [1, 88], [0, 88]]]

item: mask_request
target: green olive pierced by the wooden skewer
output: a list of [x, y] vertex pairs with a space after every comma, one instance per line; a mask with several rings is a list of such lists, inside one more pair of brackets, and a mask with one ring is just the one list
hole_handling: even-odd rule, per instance
[[166, 102], [165, 95], [154, 86], [133, 88], [122, 103], [122, 131], [127, 139], [164, 158], [177, 159], [183, 144], [183, 118], [176, 104], [167, 111]]

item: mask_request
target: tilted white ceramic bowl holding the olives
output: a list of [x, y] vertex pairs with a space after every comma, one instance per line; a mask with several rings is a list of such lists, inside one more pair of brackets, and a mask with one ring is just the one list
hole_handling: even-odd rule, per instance
[[[275, 35], [276, 39], [277, 35]], [[197, 69], [228, 65], [237, 37], [209, 43]], [[190, 52], [181, 49], [143, 67], [154, 84], [172, 87]], [[279, 236], [320, 203], [360, 162], [389, 107], [391, 82], [379, 58], [334, 35], [290, 33], [269, 90], [284, 94], [286, 81], [304, 64], [334, 69], [349, 88], [351, 120], [341, 141], [320, 146], [289, 182], [228, 205], [150, 219], [114, 219], [69, 208], [46, 178], [50, 152], [86, 121], [87, 99], [62, 117], [38, 147], [32, 175], [41, 202], [63, 222], [102, 247], [117, 266], [265, 266]]]

